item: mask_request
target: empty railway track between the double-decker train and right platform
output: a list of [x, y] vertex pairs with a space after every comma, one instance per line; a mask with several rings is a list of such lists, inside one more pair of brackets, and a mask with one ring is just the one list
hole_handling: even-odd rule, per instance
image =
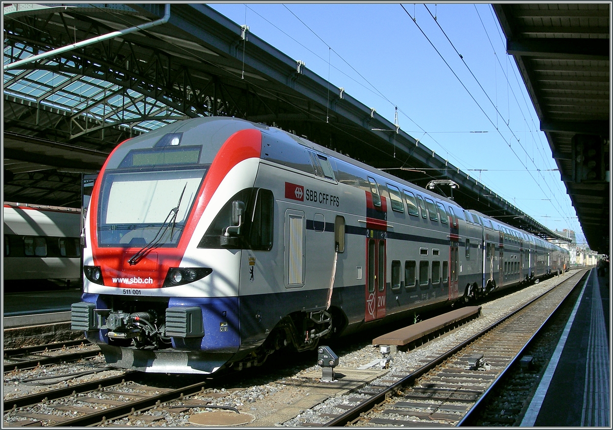
[[325, 426], [455, 426], [522, 358], [531, 339], [585, 275], [574, 274], [398, 382], [362, 390], [370, 391], [370, 398], [349, 399], [349, 405], [343, 405], [348, 410]]

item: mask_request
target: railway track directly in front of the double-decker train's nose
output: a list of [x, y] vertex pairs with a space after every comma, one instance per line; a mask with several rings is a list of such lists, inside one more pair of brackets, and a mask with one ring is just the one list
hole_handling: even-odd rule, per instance
[[[210, 409], [229, 409], [233, 407], [212, 404], [220, 397], [213, 393], [219, 384], [238, 379], [240, 374], [233, 372], [210, 378], [196, 377], [196, 383], [182, 384], [194, 377], [180, 377], [177, 388], [170, 388], [164, 377], [151, 377], [142, 372], [127, 371], [124, 374], [102, 380], [71, 385], [70, 387], [48, 390], [4, 401], [4, 426], [47, 426], [83, 427], [113, 425], [113, 420], [124, 417], [139, 417], [141, 424], [150, 424], [175, 416], [185, 410], [208, 407]], [[172, 379], [166, 377], [166, 379]], [[152, 383], [150, 380], [159, 382]], [[147, 381], [147, 382], [143, 382]], [[160, 386], [158, 386], [160, 385]], [[163, 387], [161, 385], [164, 385]], [[175, 384], [177, 385], [177, 384]], [[211, 387], [209, 387], [211, 386]], [[199, 394], [204, 398], [191, 398]], [[178, 401], [173, 404], [173, 401]], [[153, 410], [143, 415], [143, 412]], [[26, 418], [26, 421], [7, 421], [7, 412], [13, 417]]]

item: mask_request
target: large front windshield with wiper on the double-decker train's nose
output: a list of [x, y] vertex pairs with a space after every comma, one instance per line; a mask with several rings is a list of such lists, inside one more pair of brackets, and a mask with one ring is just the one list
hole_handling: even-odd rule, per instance
[[98, 209], [99, 246], [177, 246], [207, 169], [107, 171]]

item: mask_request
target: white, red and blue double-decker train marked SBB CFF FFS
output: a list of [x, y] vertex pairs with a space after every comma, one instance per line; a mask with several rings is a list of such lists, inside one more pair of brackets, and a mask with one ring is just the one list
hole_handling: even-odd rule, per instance
[[110, 154], [83, 264], [72, 328], [107, 363], [206, 374], [531, 282], [568, 252], [283, 130], [196, 118]]

